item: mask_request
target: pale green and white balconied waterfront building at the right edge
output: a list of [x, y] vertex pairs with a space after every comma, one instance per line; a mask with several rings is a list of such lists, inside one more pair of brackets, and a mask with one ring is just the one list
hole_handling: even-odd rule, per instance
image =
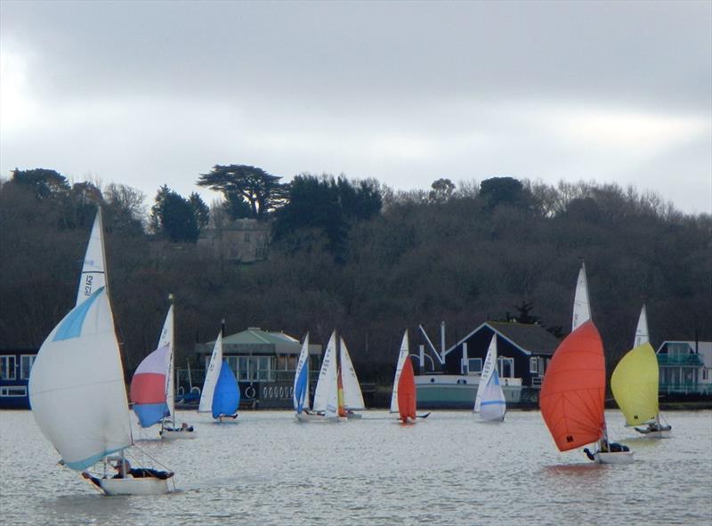
[[666, 341], [657, 356], [660, 394], [712, 394], [712, 342]]

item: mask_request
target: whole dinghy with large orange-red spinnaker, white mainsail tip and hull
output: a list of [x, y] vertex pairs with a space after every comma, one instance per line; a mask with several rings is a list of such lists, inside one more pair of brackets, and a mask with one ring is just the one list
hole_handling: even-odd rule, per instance
[[541, 416], [560, 451], [596, 442], [593, 454], [584, 449], [596, 463], [629, 464], [633, 452], [608, 440], [605, 355], [601, 335], [591, 320], [584, 265], [578, 272], [571, 327], [546, 368], [539, 394]]

